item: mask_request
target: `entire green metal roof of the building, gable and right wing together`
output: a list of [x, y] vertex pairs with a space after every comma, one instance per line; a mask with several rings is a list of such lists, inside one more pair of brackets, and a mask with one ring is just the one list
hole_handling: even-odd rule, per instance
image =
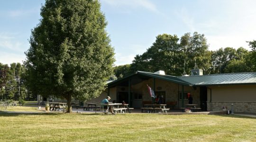
[[[227, 73], [212, 75], [195, 76], [170, 76], [151, 72], [137, 71], [134, 74], [108, 83], [108, 86], [115, 86], [124, 83], [133, 77], [142, 77], [144, 79], [156, 78], [166, 80], [186, 86], [213, 86], [213, 85], [236, 85], [236, 84], [256, 84], [256, 72], [247, 73]], [[128, 82], [126, 82], [127, 84]]]

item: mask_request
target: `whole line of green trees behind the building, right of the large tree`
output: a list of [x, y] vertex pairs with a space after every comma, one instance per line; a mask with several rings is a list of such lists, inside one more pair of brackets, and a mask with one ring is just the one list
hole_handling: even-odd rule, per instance
[[256, 41], [247, 42], [251, 51], [243, 47], [232, 47], [216, 51], [208, 49], [207, 39], [203, 34], [194, 32], [177, 35], [158, 35], [145, 53], [134, 57], [131, 64], [114, 67], [117, 78], [122, 78], [135, 71], [165, 71], [168, 75], [181, 76], [190, 74], [195, 63], [204, 74], [235, 73], [256, 71]]

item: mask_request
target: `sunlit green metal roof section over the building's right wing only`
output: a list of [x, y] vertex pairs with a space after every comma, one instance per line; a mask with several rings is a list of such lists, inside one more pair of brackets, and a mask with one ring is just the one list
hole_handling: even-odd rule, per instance
[[177, 77], [193, 86], [256, 84], [256, 72]]

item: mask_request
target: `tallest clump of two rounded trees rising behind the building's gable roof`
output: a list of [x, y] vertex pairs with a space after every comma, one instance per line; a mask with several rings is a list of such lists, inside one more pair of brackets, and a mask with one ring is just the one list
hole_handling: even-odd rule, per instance
[[184, 34], [181, 39], [177, 35], [158, 35], [153, 45], [142, 55], [136, 55], [131, 64], [131, 71], [155, 72], [164, 70], [166, 74], [180, 76], [195, 67], [209, 73], [210, 51], [204, 35], [194, 32]]

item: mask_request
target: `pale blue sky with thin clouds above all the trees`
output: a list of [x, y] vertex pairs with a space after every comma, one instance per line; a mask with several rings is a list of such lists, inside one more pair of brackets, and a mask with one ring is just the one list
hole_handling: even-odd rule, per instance
[[[130, 64], [160, 34], [204, 34], [209, 50], [256, 40], [256, 0], [100, 0], [115, 65]], [[0, 63], [26, 60], [45, 0], [0, 0]]]

